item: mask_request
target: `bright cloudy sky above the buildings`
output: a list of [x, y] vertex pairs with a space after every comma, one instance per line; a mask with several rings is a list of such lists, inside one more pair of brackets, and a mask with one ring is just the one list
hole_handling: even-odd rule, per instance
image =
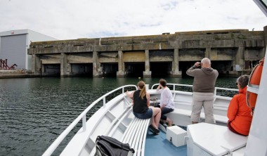
[[0, 32], [28, 29], [63, 40], [266, 25], [253, 0], [0, 0]]

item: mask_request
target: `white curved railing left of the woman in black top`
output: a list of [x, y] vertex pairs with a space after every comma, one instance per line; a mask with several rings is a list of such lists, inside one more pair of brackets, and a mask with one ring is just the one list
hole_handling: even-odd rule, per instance
[[58, 138], [56, 138], [56, 140], [49, 146], [49, 148], [44, 152], [43, 156], [45, 155], [52, 155], [52, 153], [56, 150], [56, 148], [58, 148], [58, 145], [63, 141], [63, 139], [70, 133], [70, 131], [79, 123], [79, 121], [81, 121], [82, 119], [82, 128], [85, 131], [86, 130], [86, 114], [87, 112], [89, 112], [89, 110], [91, 110], [91, 108], [93, 108], [94, 105], [96, 105], [100, 100], [103, 100], [103, 107], [105, 107], [106, 104], [106, 97], [109, 96], [110, 94], [114, 93], [115, 91], [119, 91], [120, 89], [122, 89], [122, 93], [124, 93], [124, 89], [125, 88], [129, 88], [129, 87], [134, 87], [137, 90], [137, 86], [136, 85], [125, 85], [125, 86], [121, 86], [117, 89], [114, 89], [108, 93], [106, 93], [105, 95], [101, 96], [100, 98], [98, 98], [97, 100], [95, 100], [93, 103], [91, 103], [91, 105], [89, 105], [88, 108], [86, 108], [86, 110], [84, 110], [84, 112], [82, 112], [79, 117], [77, 117], [76, 119], [74, 119], [74, 121], [70, 124], [70, 126], [67, 126], [67, 129], [65, 129], [65, 131], [63, 131], [60, 136], [58, 136]]

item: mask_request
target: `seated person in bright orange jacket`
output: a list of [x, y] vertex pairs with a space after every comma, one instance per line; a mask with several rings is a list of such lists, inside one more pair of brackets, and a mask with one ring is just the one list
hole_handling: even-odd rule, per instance
[[233, 96], [228, 107], [228, 129], [235, 134], [242, 136], [249, 135], [250, 125], [252, 124], [252, 110], [247, 106], [246, 93], [247, 84], [249, 82], [248, 75], [238, 77], [236, 85], [239, 93]]

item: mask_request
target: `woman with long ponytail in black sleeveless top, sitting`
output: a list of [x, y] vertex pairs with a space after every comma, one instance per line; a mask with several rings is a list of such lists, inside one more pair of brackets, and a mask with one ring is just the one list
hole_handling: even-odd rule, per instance
[[133, 115], [139, 119], [152, 119], [152, 124], [150, 125], [150, 129], [154, 132], [154, 134], [159, 134], [159, 119], [161, 110], [160, 108], [154, 108], [150, 106], [150, 94], [145, 90], [145, 82], [138, 82], [138, 90], [126, 91], [126, 96], [133, 99]]

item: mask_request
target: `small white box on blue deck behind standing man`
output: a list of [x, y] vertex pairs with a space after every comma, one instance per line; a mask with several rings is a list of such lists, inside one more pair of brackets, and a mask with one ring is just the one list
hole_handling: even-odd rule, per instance
[[186, 144], [184, 141], [186, 134], [186, 131], [181, 129], [179, 126], [168, 126], [166, 138], [168, 141], [178, 147]]

